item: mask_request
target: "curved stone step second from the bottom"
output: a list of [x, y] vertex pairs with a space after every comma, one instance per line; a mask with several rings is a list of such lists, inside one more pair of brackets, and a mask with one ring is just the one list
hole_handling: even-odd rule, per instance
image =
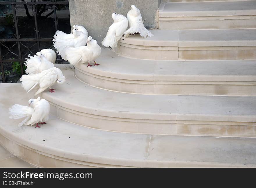
[[[45, 91], [41, 97], [50, 102], [51, 114], [71, 123], [114, 132], [256, 137], [256, 97], [112, 92], [80, 82], [70, 65], [56, 66], [66, 83], [54, 85], [56, 93]], [[13, 88], [0, 86], [4, 91]], [[15, 92], [23, 92], [21, 85]]]

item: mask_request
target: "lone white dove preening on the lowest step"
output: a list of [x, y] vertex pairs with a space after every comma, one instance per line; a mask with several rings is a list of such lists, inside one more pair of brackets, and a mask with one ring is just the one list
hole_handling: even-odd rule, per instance
[[21, 123], [18, 124], [19, 127], [22, 125], [32, 126], [36, 123], [36, 127], [40, 128], [41, 125], [38, 126], [38, 122], [40, 121], [40, 124], [45, 124], [45, 122], [49, 119], [49, 112], [49, 102], [45, 99], [40, 100], [40, 97], [37, 99], [29, 99], [29, 106], [14, 104], [9, 108], [10, 119], [20, 119], [26, 117]]

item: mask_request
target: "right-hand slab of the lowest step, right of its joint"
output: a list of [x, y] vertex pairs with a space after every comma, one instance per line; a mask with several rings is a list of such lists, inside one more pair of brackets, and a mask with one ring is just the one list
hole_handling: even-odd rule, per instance
[[[180, 161], [204, 161], [206, 163], [211, 161], [211, 163], [219, 163], [221, 159], [222, 162], [225, 161], [231, 164], [241, 164], [241, 161], [243, 160], [255, 160], [255, 156], [253, 156], [254, 149], [252, 147], [255, 143], [255, 139], [243, 140], [243, 145], [240, 145], [239, 142], [241, 139], [243, 140], [243, 138], [199, 138], [194, 136], [170, 137], [163, 135], [152, 135], [147, 159], [154, 160], [155, 157], [159, 156], [159, 153], [163, 153], [163, 155], [159, 156], [159, 158], [160, 160], [169, 163], [165, 167], [173, 167], [174, 165], [176, 167], [187, 166], [179, 163]], [[225, 146], [223, 145], [224, 143]], [[223, 148], [221, 145], [223, 145]], [[202, 147], [205, 149], [201, 150]], [[242, 148], [235, 149], [238, 147]], [[167, 148], [171, 149], [172, 152], [166, 152]], [[226, 157], [231, 153], [240, 153], [240, 155], [227, 159]], [[176, 164], [173, 164], [173, 161], [175, 161]], [[148, 162], [148, 165], [156, 167], [153, 164], [151, 165], [151, 162]], [[159, 163], [159, 165], [161, 164]], [[161, 165], [161, 167], [163, 166]], [[200, 165], [198, 165], [198, 167], [200, 167]]]

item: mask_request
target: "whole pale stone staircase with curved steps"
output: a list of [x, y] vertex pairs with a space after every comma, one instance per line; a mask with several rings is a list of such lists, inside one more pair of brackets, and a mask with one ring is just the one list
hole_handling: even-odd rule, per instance
[[57, 64], [40, 129], [7, 118], [33, 93], [0, 84], [1, 145], [38, 167], [256, 167], [256, 3], [191, 1], [162, 1], [154, 36], [99, 66]]

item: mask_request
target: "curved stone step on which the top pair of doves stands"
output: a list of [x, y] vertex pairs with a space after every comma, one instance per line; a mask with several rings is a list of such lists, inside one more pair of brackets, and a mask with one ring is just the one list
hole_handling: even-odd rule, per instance
[[114, 51], [150, 60], [256, 60], [256, 29], [151, 30], [121, 38]]

